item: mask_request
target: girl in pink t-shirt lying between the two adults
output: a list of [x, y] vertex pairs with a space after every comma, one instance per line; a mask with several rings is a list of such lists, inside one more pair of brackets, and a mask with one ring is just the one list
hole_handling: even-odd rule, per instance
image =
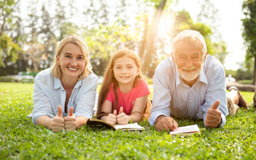
[[150, 91], [142, 73], [140, 59], [128, 49], [110, 59], [98, 99], [96, 117], [114, 125], [148, 119]]

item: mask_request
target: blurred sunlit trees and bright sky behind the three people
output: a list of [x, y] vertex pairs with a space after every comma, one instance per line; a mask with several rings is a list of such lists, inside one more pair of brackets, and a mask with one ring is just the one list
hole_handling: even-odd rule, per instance
[[223, 63], [226, 75], [255, 84], [255, 6], [248, 2], [4, 0], [0, 81], [50, 67], [57, 43], [72, 34], [85, 39], [96, 75], [104, 75], [110, 57], [126, 47], [140, 56], [144, 75], [152, 78], [158, 63], [170, 56], [172, 38], [194, 29], [205, 36], [208, 54]]

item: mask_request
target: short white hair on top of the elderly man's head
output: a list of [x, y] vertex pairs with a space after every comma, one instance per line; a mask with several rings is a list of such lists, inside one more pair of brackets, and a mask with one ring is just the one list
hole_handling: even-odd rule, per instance
[[178, 33], [178, 35], [176, 35], [176, 37], [174, 37], [174, 39], [172, 40], [172, 56], [174, 55], [174, 51], [175, 51], [175, 45], [177, 42], [181, 42], [181, 41], [190, 41], [191, 43], [201, 43], [201, 45], [203, 45], [202, 47], [202, 53], [203, 55], [205, 55], [207, 53], [207, 44], [205, 43], [205, 38], [203, 37], [203, 35], [201, 35], [201, 33], [199, 31], [193, 31], [193, 30], [184, 30], [180, 33]]

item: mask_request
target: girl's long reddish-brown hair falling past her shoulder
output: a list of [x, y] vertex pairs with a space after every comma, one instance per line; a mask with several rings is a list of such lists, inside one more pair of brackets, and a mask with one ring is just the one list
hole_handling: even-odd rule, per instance
[[[128, 58], [133, 59], [134, 63], [136, 64], [136, 66], [139, 69], [139, 74], [135, 77], [132, 87], [134, 87], [134, 85], [136, 85], [136, 83], [138, 83], [138, 81], [140, 79], [144, 79], [144, 76], [142, 75], [142, 73], [140, 71], [141, 63], [140, 63], [140, 58], [138, 57], [138, 55], [136, 55], [133, 51], [130, 51], [128, 49], [118, 50], [111, 57], [111, 59], [108, 63], [108, 66], [106, 67], [106, 71], [104, 73], [104, 79], [103, 79], [103, 82], [102, 82], [102, 87], [100, 88], [100, 93], [99, 93], [99, 98], [98, 98], [98, 110], [97, 110], [97, 113], [96, 113], [96, 117], [98, 119], [100, 119], [100, 117], [102, 117], [104, 115], [108, 115], [108, 113], [102, 113], [102, 105], [103, 105], [104, 101], [106, 101], [106, 97], [108, 96], [108, 92], [110, 91], [109, 90], [110, 85], [112, 83], [114, 83], [113, 89], [114, 89], [114, 94], [115, 94], [115, 97], [116, 97], [114, 108], [112, 108], [112, 113], [113, 113], [114, 109], [116, 109], [116, 107], [117, 107], [118, 96], [116, 94], [116, 88], [119, 87], [119, 84], [118, 84], [118, 81], [116, 80], [116, 78], [114, 77], [114, 65], [115, 65], [116, 59], [121, 58], [121, 57], [128, 57]], [[146, 111], [146, 110], [148, 110], [148, 109], [146, 109], [146, 107], [145, 107], [144, 111]], [[144, 117], [144, 118], [146, 118], [146, 117]]]

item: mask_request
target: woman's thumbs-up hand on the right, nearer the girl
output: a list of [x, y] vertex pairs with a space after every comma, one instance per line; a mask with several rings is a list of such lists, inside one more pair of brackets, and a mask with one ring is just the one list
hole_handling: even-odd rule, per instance
[[75, 131], [78, 125], [78, 121], [76, 116], [74, 115], [74, 108], [70, 107], [70, 111], [68, 111], [68, 116], [64, 117], [65, 130], [66, 131]]

